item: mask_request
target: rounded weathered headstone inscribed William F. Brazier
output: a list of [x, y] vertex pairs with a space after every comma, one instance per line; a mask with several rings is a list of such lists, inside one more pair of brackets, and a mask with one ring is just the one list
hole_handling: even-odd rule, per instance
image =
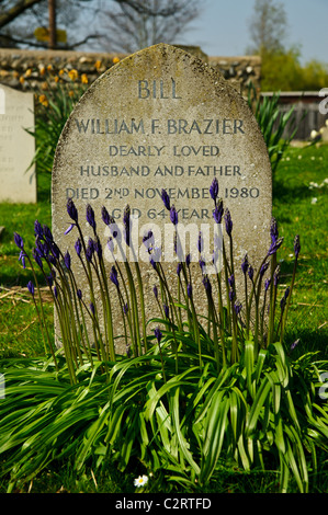
[[[165, 241], [166, 230], [172, 227], [161, 199], [166, 188], [185, 229], [185, 253], [191, 250], [197, 261], [188, 244], [200, 229], [205, 233], [214, 226], [208, 190], [214, 178], [218, 196], [231, 214], [236, 262], [241, 263], [247, 252], [256, 268], [269, 248], [272, 172], [255, 116], [241, 95], [208, 65], [166, 44], [146, 48], [101, 76], [63, 130], [53, 170], [55, 239], [64, 251], [73, 249], [77, 232], [64, 234], [71, 222], [66, 211], [69, 197], [82, 220], [87, 204], [93, 207], [104, 244], [110, 232], [101, 219], [102, 206], [120, 224], [128, 204], [137, 227], [134, 249], [140, 251], [137, 259], [145, 277], [147, 312], [157, 316], [151, 294], [156, 274], [146, 263], [143, 234], [154, 231], [167, 275], [176, 277], [177, 263]], [[134, 259], [129, 249], [127, 256]], [[110, 258], [108, 251], [109, 268]], [[202, 309], [201, 283], [194, 297]]]

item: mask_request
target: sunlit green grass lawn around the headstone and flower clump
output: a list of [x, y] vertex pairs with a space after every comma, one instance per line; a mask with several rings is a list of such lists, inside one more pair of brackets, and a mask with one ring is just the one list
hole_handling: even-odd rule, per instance
[[[319, 351], [323, 358], [328, 358], [328, 183], [325, 180], [328, 182], [328, 146], [291, 148], [274, 181], [273, 216], [278, 220], [280, 236], [284, 237], [279, 251], [282, 294], [292, 275], [295, 234], [299, 234], [302, 245], [286, 332], [287, 345], [298, 341], [291, 354], [295, 358], [308, 351]], [[13, 232], [18, 231], [29, 247], [33, 244], [35, 219], [50, 227], [46, 180], [39, 184], [39, 192], [37, 205], [0, 204], [0, 226], [5, 227], [0, 240], [0, 358], [35, 357], [44, 352], [37, 316], [26, 290], [32, 275], [18, 262], [19, 252], [13, 243]], [[53, 306], [46, 289], [43, 295], [53, 335]], [[134, 492], [135, 477], [134, 470], [131, 474], [122, 476], [115, 471], [110, 477], [97, 478], [92, 470], [84, 470], [77, 478], [71, 476], [68, 464], [67, 469], [45, 471], [26, 489], [32, 492], [56, 492], [60, 489], [69, 492]], [[163, 485], [160, 478], [154, 478], [150, 491], [165, 492], [170, 488]], [[207, 491], [270, 493], [275, 490], [275, 473], [246, 473], [223, 464]], [[323, 469], [315, 491], [327, 490], [328, 471]], [[4, 483], [0, 483], [1, 491], [5, 491]]]

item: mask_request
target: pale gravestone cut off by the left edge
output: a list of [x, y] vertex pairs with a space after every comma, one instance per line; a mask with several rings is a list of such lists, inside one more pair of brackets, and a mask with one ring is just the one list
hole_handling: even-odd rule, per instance
[[[35, 203], [33, 93], [0, 84], [0, 202]], [[29, 169], [29, 171], [27, 171]]]

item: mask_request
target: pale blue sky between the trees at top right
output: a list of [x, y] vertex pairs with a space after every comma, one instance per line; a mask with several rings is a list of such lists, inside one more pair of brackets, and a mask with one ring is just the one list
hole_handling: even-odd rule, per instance
[[[183, 42], [199, 45], [208, 56], [242, 56], [250, 44], [249, 20], [255, 0], [200, 0], [202, 14]], [[289, 37], [286, 46], [301, 49], [301, 62], [328, 62], [328, 0], [280, 0], [284, 5]], [[327, 84], [328, 85], [328, 84]]]

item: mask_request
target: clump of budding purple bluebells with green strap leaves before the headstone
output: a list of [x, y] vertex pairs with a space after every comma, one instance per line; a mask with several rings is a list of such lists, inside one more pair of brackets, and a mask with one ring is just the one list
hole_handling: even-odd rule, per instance
[[[316, 353], [293, 360], [294, 345], [285, 348], [299, 238], [294, 241], [292, 281], [281, 298], [276, 254], [283, 239], [274, 219], [262, 263], [255, 270], [246, 255], [238, 265], [244, 284], [237, 288], [231, 216], [218, 198], [216, 180], [210, 193], [214, 221], [224, 226], [225, 238], [214, 242], [211, 265], [217, 265], [217, 272], [212, 275], [203, 256], [202, 234], [199, 239], [205, 318], [197, 313], [190, 255], [180, 253], [178, 211], [166, 191], [162, 201], [176, 230], [179, 295], [172, 297], [172, 284], [149, 231], [144, 243], [158, 278], [156, 319], [145, 317], [137, 262], [123, 261], [122, 265], [115, 261], [108, 276], [91, 206], [86, 210], [88, 240], [73, 202], [67, 203], [71, 224], [66, 232], [77, 231], [75, 254], [89, 285], [84, 291], [72, 272], [72, 254], [61, 253], [48, 227], [35, 222], [32, 255], [15, 233], [20, 260], [34, 273], [29, 290], [41, 321], [35, 268], [49, 286], [63, 346], [56, 350], [44, 327], [47, 357], [1, 364], [5, 399], [0, 402], [0, 455], [3, 472], [10, 474], [9, 491], [69, 457], [78, 471], [87, 464], [125, 471], [137, 460], [143, 471], [191, 491], [208, 484], [226, 462], [244, 470], [276, 471], [280, 492], [289, 491], [291, 477], [301, 492], [308, 491], [318, 449], [328, 447], [327, 402], [317, 393], [328, 363]], [[123, 232], [105, 208], [102, 220], [111, 230], [110, 251], [114, 243], [120, 248], [123, 238], [133, 245], [128, 206]], [[99, 300], [95, 284], [101, 290]], [[118, 301], [125, 320], [126, 355], [115, 354], [113, 301]]]

